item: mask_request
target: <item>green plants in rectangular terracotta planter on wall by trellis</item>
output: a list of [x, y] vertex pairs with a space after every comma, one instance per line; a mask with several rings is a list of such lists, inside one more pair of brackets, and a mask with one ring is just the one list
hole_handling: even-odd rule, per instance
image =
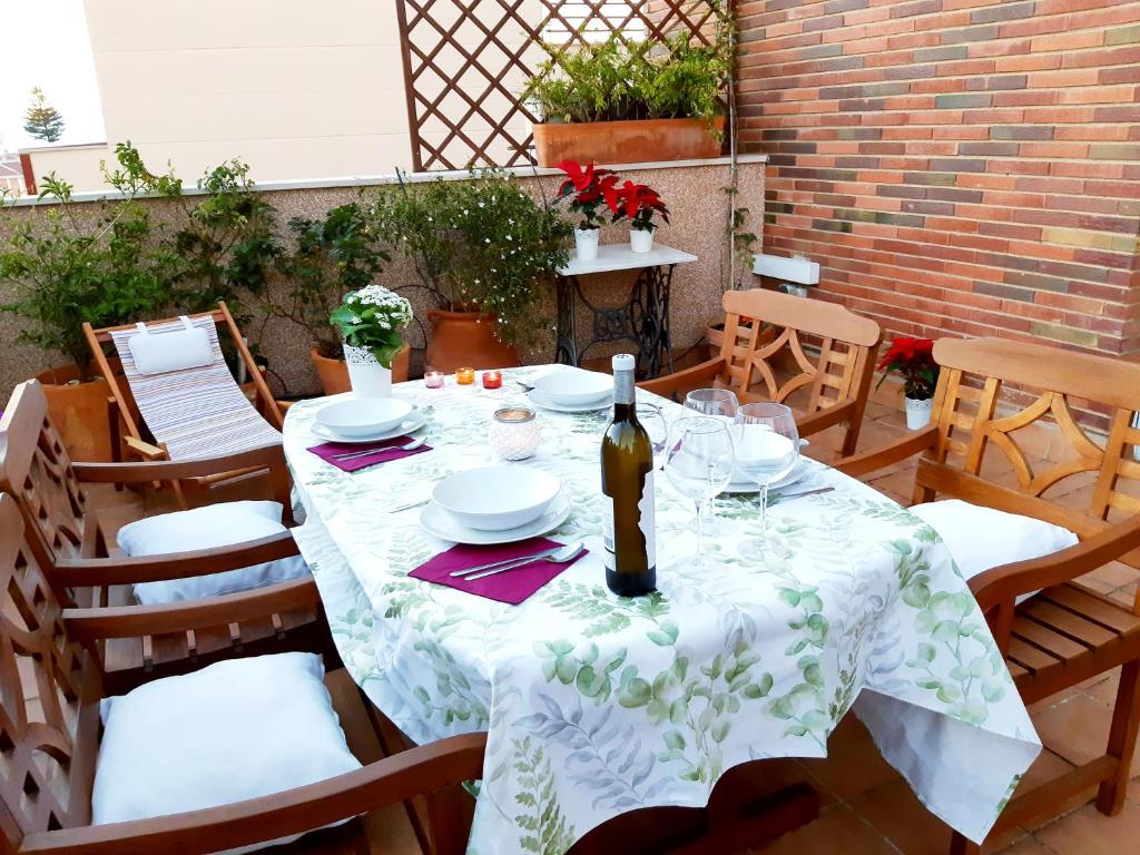
[[538, 165], [560, 161], [640, 163], [716, 157], [724, 140], [722, 95], [732, 68], [728, 40], [687, 34], [634, 43], [620, 34], [562, 52], [548, 48], [523, 90], [543, 121]]

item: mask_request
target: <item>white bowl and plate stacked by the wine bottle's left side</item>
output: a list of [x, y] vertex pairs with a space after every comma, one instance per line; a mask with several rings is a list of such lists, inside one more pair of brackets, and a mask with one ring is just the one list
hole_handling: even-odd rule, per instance
[[508, 544], [557, 528], [570, 502], [557, 478], [529, 466], [484, 466], [445, 478], [420, 514], [429, 534], [461, 544]]

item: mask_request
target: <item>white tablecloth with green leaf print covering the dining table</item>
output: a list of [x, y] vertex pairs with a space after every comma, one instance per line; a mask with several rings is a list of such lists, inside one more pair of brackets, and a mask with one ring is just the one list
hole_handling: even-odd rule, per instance
[[[657, 482], [658, 588], [621, 598], [601, 560], [600, 437], [608, 410], [540, 412], [543, 443], [515, 465], [556, 474], [573, 511], [554, 532], [591, 553], [520, 605], [408, 577], [451, 544], [421, 508], [448, 474], [497, 463], [491, 414], [526, 404], [498, 390], [393, 389], [427, 416], [432, 450], [345, 473], [307, 449], [325, 399], [294, 405], [285, 451], [307, 523], [296, 530], [341, 657], [372, 701], [418, 743], [488, 733], [471, 853], [560, 855], [618, 814], [703, 806], [730, 767], [823, 757], [849, 710], [927, 807], [982, 840], [1041, 749], [984, 617], [937, 534], [895, 502], [805, 461], [768, 510], [723, 496], [692, 561], [692, 503]], [[667, 421], [683, 413], [661, 406]]]

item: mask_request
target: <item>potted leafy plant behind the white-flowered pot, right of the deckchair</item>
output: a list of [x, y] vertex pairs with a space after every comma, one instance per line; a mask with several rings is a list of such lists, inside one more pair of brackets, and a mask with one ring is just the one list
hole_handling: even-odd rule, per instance
[[[372, 284], [389, 255], [381, 249], [360, 202], [331, 207], [323, 218], [288, 221], [292, 245], [276, 260], [280, 287], [267, 288], [261, 306], [267, 316], [284, 318], [308, 333], [309, 356], [325, 394], [350, 389], [344, 340], [329, 320], [343, 294]], [[408, 378], [409, 348], [392, 360], [392, 380]]]

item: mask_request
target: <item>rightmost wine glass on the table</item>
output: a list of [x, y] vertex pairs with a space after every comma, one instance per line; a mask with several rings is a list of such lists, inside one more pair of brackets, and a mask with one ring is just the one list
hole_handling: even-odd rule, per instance
[[768, 543], [768, 486], [787, 478], [799, 462], [799, 431], [783, 404], [746, 404], [733, 425], [736, 465], [760, 488], [760, 537], [749, 547], [763, 554]]

